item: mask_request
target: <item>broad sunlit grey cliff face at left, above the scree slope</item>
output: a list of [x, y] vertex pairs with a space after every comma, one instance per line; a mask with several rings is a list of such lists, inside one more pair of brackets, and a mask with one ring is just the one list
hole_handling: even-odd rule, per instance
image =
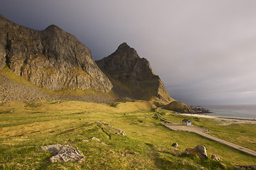
[[108, 92], [112, 83], [97, 67], [90, 50], [57, 26], [33, 30], [0, 15], [0, 68], [46, 89]]

